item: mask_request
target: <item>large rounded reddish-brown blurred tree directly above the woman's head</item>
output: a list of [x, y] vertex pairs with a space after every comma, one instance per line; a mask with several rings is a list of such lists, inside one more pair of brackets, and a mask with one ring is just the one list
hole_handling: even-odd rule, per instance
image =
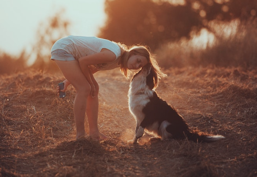
[[199, 26], [197, 13], [188, 6], [173, 6], [150, 0], [106, 0], [107, 21], [99, 36], [127, 45], [144, 43], [152, 49], [159, 43], [188, 36]]

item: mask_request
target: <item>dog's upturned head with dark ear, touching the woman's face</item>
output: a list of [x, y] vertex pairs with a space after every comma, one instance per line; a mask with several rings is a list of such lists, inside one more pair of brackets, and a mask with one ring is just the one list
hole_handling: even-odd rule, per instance
[[[158, 78], [157, 78], [158, 79]], [[131, 82], [140, 82], [140, 84], [147, 85], [150, 90], [157, 86], [156, 73], [151, 64], [146, 64], [140, 71], [138, 71], [133, 77]]]

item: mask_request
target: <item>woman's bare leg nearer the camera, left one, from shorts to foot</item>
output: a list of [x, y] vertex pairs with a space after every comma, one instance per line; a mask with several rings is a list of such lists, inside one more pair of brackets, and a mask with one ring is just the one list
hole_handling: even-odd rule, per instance
[[76, 138], [85, 136], [85, 114], [87, 106], [87, 98], [91, 87], [82, 73], [79, 62], [73, 61], [58, 61], [55, 60], [63, 76], [75, 87], [76, 96], [74, 100], [74, 117], [76, 124], [77, 135]]

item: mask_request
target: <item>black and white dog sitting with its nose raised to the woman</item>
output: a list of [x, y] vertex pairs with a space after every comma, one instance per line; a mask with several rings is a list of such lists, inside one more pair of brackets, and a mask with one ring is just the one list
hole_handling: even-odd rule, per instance
[[144, 130], [161, 140], [167, 138], [185, 139], [195, 142], [212, 142], [225, 138], [190, 130], [186, 121], [166, 101], [159, 98], [154, 88], [154, 70], [150, 64], [144, 66], [131, 80], [128, 103], [136, 119], [136, 132], [128, 143], [137, 143]]

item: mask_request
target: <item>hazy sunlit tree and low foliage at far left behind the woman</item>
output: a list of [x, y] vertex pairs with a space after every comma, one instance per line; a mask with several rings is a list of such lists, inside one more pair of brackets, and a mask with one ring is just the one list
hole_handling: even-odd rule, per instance
[[50, 63], [51, 47], [56, 40], [69, 34], [70, 25], [62, 15], [63, 10], [39, 25], [30, 51], [24, 50], [18, 57], [0, 53], [0, 74], [14, 73], [27, 68], [56, 71], [58, 67]]

